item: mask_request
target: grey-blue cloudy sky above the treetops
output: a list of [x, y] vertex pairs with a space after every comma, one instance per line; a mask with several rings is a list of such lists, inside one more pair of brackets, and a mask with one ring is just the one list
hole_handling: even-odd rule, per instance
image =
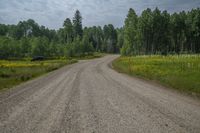
[[0, 23], [17, 24], [31, 18], [50, 29], [59, 29], [78, 9], [83, 26], [111, 23], [121, 27], [129, 8], [139, 15], [155, 7], [170, 13], [188, 11], [200, 7], [200, 0], [0, 0]]

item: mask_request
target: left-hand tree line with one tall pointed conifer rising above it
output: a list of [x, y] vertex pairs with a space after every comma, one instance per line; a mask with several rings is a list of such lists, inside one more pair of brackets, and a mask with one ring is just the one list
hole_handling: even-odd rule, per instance
[[78, 10], [73, 19], [67, 18], [59, 30], [40, 26], [32, 19], [20, 21], [17, 25], [0, 24], [0, 59], [115, 53], [119, 51], [116, 42], [117, 31], [112, 24], [103, 28], [83, 28], [82, 16]]

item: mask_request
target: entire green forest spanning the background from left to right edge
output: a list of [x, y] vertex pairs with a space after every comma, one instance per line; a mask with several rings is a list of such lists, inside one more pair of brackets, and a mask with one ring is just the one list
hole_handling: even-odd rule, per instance
[[34, 56], [80, 57], [94, 52], [122, 55], [195, 54], [200, 52], [200, 8], [170, 14], [147, 8], [137, 15], [130, 8], [124, 26], [83, 27], [77, 10], [54, 30], [32, 19], [0, 24], [0, 59]]

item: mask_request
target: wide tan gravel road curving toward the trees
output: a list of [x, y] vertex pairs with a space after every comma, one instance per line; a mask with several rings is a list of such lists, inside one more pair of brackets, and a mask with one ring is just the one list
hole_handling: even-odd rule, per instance
[[120, 74], [117, 55], [0, 93], [0, 133], [199, 133], [199, 100]]

